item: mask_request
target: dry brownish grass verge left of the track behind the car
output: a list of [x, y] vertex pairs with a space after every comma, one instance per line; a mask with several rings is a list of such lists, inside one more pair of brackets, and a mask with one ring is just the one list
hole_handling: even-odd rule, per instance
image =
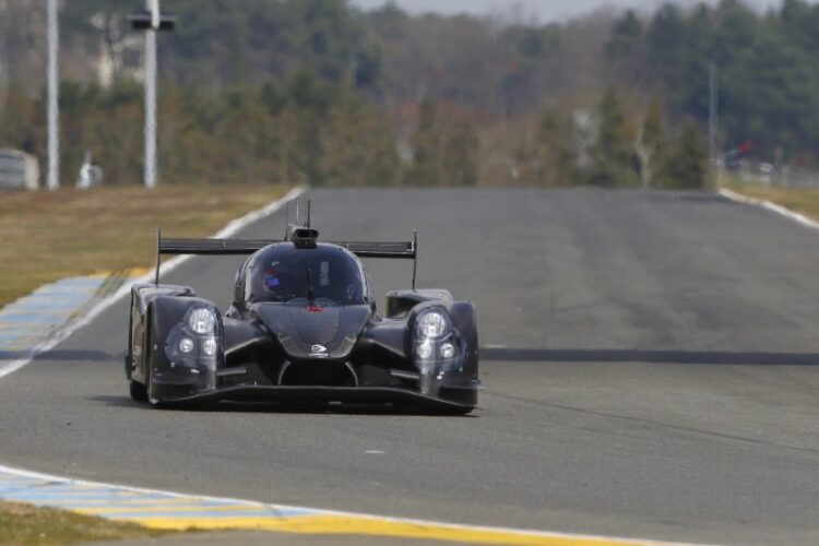
[[191, 185], [0, 192], [0, 307], [67, 276], [149, 268], [157, 226], [173, 236], [206, 237], [288, 189]]

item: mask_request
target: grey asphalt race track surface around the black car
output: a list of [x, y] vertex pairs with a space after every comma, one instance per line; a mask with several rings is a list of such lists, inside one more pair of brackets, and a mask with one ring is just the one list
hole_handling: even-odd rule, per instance
[[[819, 232], [710, 193], [312, 199], [325, 239], [417, 228], [419, 286], [476, 301], [480, 411], [134, 404], [122, 300], [0, 380], [0, 462], [458, 523], [819, 543]], [[276, 215], [244, 235], [283, 230]], [[224, 307], [237, 263], [193, 259], [164, 280]], [[379, 294], [408, 287], [407, 263], [369, 265]]]

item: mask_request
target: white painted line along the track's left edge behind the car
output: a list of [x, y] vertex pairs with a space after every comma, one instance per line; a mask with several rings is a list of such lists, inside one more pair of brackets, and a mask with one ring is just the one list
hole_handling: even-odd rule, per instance
[[[307, 188], [304, 186], [299, 186], [298, 188], [295, 188], [290, 190], [285, 197], [280, 199], [278, 201], [274, 201], [270, 203], [269, 205], [259, 209], [258, 211], [250, 212], [246, 214], [245, 216], [234, 219], [230, 223], [228, 223], [225, 227], [219, 229], [216, 234], [214, 234], [213, 238], [227, 238], [236, 235], [238, 232], [240, 232], [242, 228], [247, 227], [249, 224], [252, 224], [253, 222], [264, 218], [278, 210], [282, 209], [282, 206], [294, 199], [297, 199], [299, 195], [301, 195], [305, 191], [307, 191]], [[173, 271], [174, 269], [178, 268], [186, 261], [190, 260], [190, 256], [177, 256], [176, 258], [173, 258], [168, 260], [167, 262], [164, 262], [162, 264], [162, 271], [163, 273], [167, 273], [169, 271]], [[154, 273], [155, 270], [152, 270], [151, 273], [147, 273], [145, 275], [142, 275], [141, 277], [136, 278], [134, 283], [150, 283], [154, 280]], [[107, 298], [104, 298], [97, 302], [94, 307], [92, 307], [87, 313], [85, 313], [83, 317], [79, 318], [78, 320], [71, 322], [70, 324], [66, 325], [64, 328], [60, 329], [58, 332], [56, 332], [52, 336], [48, 337], [47, 340], [38, 343], [24, 356], [21, 358], [17, 358], [16, 360], [11, 360], [10, 363], [2, 365], [0, 367], [0, 378], [8, 376], [9, 373], [13, 373], [26, 364], [31, 363], [37, 355], [40, 355], [47, 351], [50, 351], [54, 348], [58, 343], [66, 340], [69, 335], [73, 334], [81, 328], [91, 323], [92, 320], [97, 318], [103, 311], [111, 307], [114, 304], [119, 301], [120, 298], [131, 293], [131, 287], [129, 285], [122, 285], [120, 288], [108, 296]]]

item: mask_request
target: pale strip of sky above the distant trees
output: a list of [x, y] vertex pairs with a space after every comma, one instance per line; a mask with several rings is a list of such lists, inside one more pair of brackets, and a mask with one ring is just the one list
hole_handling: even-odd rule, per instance
[[[379, 8], [387, 0], [351, 0], [359, 8]], [[472, 13], [472, 14], [503, 14], [511, 12], [515, 5], [522, 10], [521, 14], [537, 17], [538, 22], [547, 23], [582, 15], [597, 8], [606, 5], [617, 8], [637, 8], [651, 11], [663, 3], [663, 0], [393, 0], [410, 13]], [[747, 4], [761, 10], [778, 7], [781, 0], [745, 0]], [[811, 0], [812, 3], [814, 0]], [[819, 0], [817, 0], [819, 1]], [[695, 5], [700, 0], [677, 0], [680, 5]], [[715, 3], [711, 0], [710, 3]]]

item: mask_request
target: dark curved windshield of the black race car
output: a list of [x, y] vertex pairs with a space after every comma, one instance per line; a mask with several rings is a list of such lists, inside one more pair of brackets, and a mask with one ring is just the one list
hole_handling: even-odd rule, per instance
[[281, 244], [253, 258], [246, 296], [250, 302], [360, 305], [365, 302], [365, 283], [356, 259], [342, 249], [322, 245], [296, 249]]

